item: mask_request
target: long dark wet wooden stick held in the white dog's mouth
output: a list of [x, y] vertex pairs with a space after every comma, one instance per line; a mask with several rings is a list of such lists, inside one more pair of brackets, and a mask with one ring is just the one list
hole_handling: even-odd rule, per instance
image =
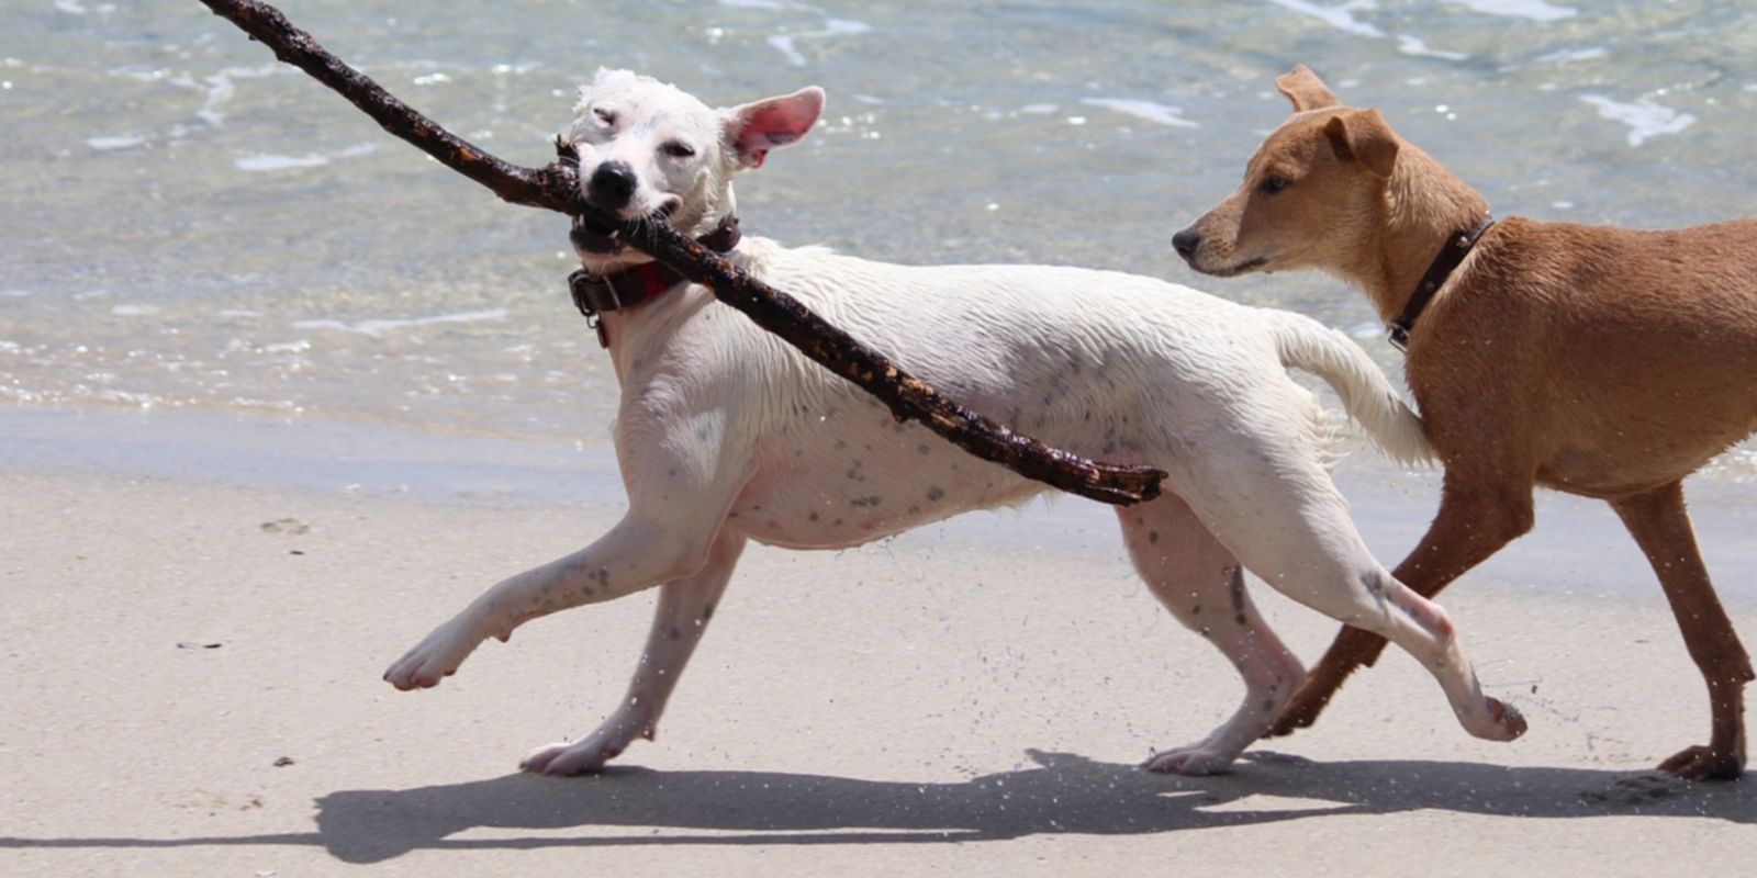
[[945, 399], [884, 355], [813, 314], [799, 300], [750, 277], [675, 228], [604, 216], [585, 202], [575, 169], [568, 163], [553, 162], [543, 169], [527, 169], [474, 148], [397, 100], [365, 74], [343, 63], [309, 33], [286, 21], [279, 9], [258, 0], [202, 0], [202, 4], [269, 46], [281, 61], [311, 74], [353, 102], [392, 135], [487, 186], [501, 200], [580, 216], [597, 230], [620, 232], [643, 253], [671, 265], [683, 277], [712, 288], [715, 297], [745, 313], [759, 327], [882, 400], [898, 421], [921, 421], [975, 457], [1093, 500], [1128, 506], [1160, 495], [1163, 471], [1091, 462], [1016, 434]]

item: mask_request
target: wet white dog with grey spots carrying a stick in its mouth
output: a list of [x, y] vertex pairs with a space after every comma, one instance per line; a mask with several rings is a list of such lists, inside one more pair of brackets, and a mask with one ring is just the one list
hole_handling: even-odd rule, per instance
[[[713, 111], [654, 79], [599, 70], [568, 140], [603, 211], [703, 235], [973, 411], [1077, 455], [1170, 472], [1160, 499], [1117, 509], [1123, 539], [1165, 608], [1239, 667], [1246, 697], [1149, 769], [1225, 771], [1305, 680], [1251, 604], [1240, 565], [1413, 653], [1471, 734], [1525, 730], [1483, 695], [1444, 611], [1367, 551], [1330, 481], [1323, 413], [1288, 365], [1335, 386], [1393, 455], [1427, 455], [1420, 421], [1353, 342], [1297, 314], [1117, 272], [905, 267], [738, 241], [733, 172], [803, 137], [822, 104], [806, 88]], [[487, 637], [661, 587], [627, 699], [583, 739], [525, 757], [527, 771], [550, 774], [599, 771], [654, 736], [747, 541], [840, 550], [1045, 490], [896, 423], [617, 237], [575, 228], [573, 241], [603, 279], [589, 300], [622, 383], [615, 443], [629, 511], [583, 550], [495, 585], [385, 673], [397, 688], [434, 687]]]

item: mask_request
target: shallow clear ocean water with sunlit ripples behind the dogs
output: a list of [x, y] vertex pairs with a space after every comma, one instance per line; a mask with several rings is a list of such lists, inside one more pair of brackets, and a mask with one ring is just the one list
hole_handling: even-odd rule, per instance
[[[747, 232], [880, 260], [1154, 274], [1312, 314], [1392, 374], [1399, 356], [1356, 291], [1316, 274], [1198, 277], [1170, 253], [1284, 118], [1272, 79], [1295, 63], [1379, 107], [1502, 216], [1757, 212], [1746, 4], [281, 9], [525, 165], [552, 158], [601, 65], [710, 104], [819, 84], [821, 126], [740, 179]], [[195, 0], [0, 11], [0, 455], [123, 460], [111, 444], [199, 413], [165, 455], [199, 464], [204, 443], [249, 448], [234, 427], [271, 423], [286, 446], [351, 425], [603, 458], [615, 383], [564, 290], [564, 218], [494, 200]], [[1708, 478], [1752, 474], [1741, 450]]]

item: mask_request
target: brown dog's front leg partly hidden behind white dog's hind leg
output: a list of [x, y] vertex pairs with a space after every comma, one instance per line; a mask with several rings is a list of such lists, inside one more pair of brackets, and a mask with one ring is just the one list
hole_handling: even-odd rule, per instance
[[[1457, 476], [1462, 467], [1448, 467], [1441, 490], [1439, 515], [1414, 551], [1392, 572], [1421, 597], [1434, 597], [1465, 571], [1476, 567], [1502, 546], [1532, 529], [1532, 483], [1481, 490], [1488, 479]], [[1330, 643], [1318, 667], [1305, 676], [1293, 701], [1281, 711], [1263, 738], [1293, 734], [1318, 722], [1335, 690], [1356, 667], [1385, 651], [1385, 637], [1346, 627]]]

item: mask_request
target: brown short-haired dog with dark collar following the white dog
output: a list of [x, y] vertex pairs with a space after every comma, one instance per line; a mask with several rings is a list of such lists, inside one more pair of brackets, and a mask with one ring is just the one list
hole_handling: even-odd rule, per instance
[[[1708, 745], [1660, 769], [1739, 776], [1752, 666], [1708, 581], [1680, 483], [1757, 428], [1757, 220], [1680, 232], [1488, 227], [1488, 202], [1377, 111], [1341, 105], [1304, 67], [1276, 86], [1293, 118], [1251, 156], [1244, 184], [1174, 244], [1205, 274], [1342, 277], [1407, 342], [1409, 388], [1446, 476], [1439, 515], [1395, 578], [1437, 594], [1530, 530], [1534, 485], [1608, 500], [1708, 681]], [[1383, 646], [1344, 629], [1270, 734], [1311, 725]]]

